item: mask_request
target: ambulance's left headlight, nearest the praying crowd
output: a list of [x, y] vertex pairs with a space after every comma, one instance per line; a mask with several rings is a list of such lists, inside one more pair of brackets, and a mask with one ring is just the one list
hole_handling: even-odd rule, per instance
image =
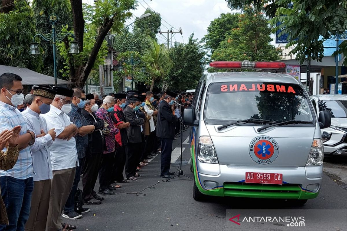
[[197, 158], [204, 163], [218, 163], [217, 155], [210, 136], [201, 136], [198, 142]]

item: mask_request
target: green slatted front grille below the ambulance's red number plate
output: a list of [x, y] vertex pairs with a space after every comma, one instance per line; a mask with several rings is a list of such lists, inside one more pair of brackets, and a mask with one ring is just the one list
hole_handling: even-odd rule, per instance
[[255, 198], [299, 198], [301, 187], [298, 184], [248, 184], [240, 182], [224, 183], [224, 195]]

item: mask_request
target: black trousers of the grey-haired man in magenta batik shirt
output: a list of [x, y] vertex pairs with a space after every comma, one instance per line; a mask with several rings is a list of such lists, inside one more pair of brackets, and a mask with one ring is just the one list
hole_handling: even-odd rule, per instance
[[99, 170], [99, 184], [101, 190], [105, 190], [110, 186], [114, 158], [115, 152], [103, 153], [101, 156], [101, 166]]

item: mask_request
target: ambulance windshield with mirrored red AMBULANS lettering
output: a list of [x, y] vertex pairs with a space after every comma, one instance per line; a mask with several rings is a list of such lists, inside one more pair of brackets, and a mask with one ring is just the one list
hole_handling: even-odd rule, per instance
[[309, 99], [303, 91], [299, 85], [288, 83], [213, 83], [205, 103], [205, 122], [227, 124], [249, 118], [313, 122]]

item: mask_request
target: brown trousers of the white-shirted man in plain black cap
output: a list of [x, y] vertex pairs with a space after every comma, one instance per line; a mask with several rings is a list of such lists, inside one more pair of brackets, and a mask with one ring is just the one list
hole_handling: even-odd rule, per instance
[[76, 167], [53, 171], [46, 231], [62, 228], [61, 213], [74, 184]]

